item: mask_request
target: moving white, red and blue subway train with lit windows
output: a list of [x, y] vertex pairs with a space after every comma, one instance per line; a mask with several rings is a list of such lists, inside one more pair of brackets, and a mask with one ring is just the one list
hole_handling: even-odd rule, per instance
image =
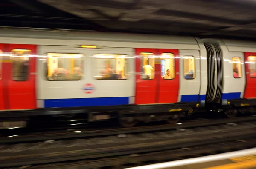
[[80, 114], [131, 127], [201, 110], [255, 111], [255, 42], [31, 28], [0, 37], [2, 126]]

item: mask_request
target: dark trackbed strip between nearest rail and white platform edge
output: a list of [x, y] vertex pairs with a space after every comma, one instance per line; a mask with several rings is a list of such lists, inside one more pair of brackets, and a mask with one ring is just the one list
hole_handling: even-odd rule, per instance
[[[167, 161], [215, 155], [225, 152], [250, 149], [256, 146], [256, 137], [243, 140], [224, 141], [202, 146], [189, 146], [152, 153], [124, 155], [121, 157], [102, 158], [98, 160], [81, 160], [67, 163], [27, 166], [29, 169], [122, 169], [134, 166], [144, 166]], [[17, 169], [17, 168], [10, 168]]]

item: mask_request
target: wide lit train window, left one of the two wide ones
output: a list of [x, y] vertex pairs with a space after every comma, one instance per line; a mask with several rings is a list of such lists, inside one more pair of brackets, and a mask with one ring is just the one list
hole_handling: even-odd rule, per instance
[[44, 63], [47, 80], [81, 80], [84, 77], [84, 55], [74, 53], [47, 53]]

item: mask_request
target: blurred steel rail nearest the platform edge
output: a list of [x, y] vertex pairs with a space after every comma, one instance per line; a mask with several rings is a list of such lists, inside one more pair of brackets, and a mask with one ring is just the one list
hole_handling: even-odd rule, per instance
[[[235, 128], [235, 127], [234, 127]], [[73, 161], [73, 160], [84, 160], [84, 159], [93, 159], [93, 158], [107, 158], [113, 156], [124, 156], [131, 154], [140, 154], [140, 153], [149, 153], [149, 152], [159, 152], [172, 149], [179, 149], [182, 147], [191, 147], [191, 146], [202, 146], [213, 143], [219, 143], [230, 140], [244, 139], [250, 137], [256, 137], [256, 125], [249, 126], [234, 132], [234, 129], [226, 129], [222, 133], [215, 133], [215, 135], [210, 134], [196, 134], [191, 137], [182, 138], [178, 137], [173, 140], [151, 140], [151, 141], [141, 141], [135, 142], [132, 144], [127, 143], [112, 143], [112, 146], [106, 144], [101, 148], [99, 145], [87, 146], [85, 147], [76, 147], [76, 149], [66, 151], [67, 147], [64, 147], [62, 151], [56, 152], [45, 152], [44, 154], [32, 153], [3, 153], [0, 156], [2, 161], [0, 162], [0, 167], [12, 167], [12, 166], [23, 166], [23, 165], [38, 165], [42, 163], [59, 163], [64, 161]], [[180, 132], [180, 131], [178, 131]], [[90, 148], [88, 148], [90, 147]]]

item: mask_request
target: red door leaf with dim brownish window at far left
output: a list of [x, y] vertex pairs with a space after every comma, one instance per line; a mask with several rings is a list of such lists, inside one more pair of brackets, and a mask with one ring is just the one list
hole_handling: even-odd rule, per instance
[[35, 57], [36, 45], [9, 44], [10, 62], [6, 64], [8, 73], [7, 91], [9, 96], [8, 109], [35, 109]]

